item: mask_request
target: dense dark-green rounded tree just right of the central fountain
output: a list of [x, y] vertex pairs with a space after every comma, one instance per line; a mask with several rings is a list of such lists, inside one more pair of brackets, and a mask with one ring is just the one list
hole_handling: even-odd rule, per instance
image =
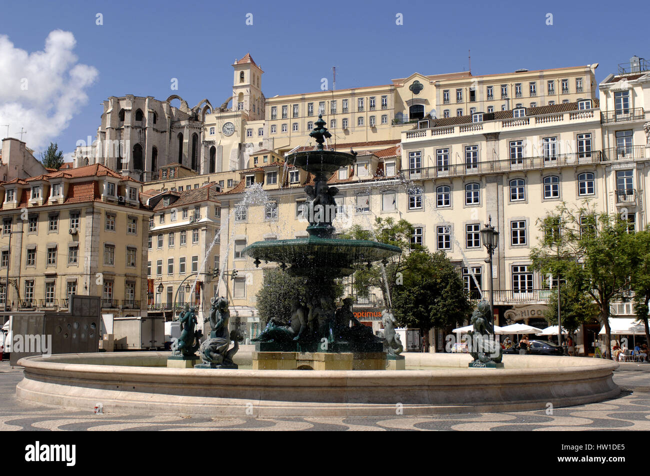
[[412, 251], [404, 260], [404, 284], [393, 286], [398, 323], [428, 332], [469, 319], [472, 301], [458, 269], [443, 251]]

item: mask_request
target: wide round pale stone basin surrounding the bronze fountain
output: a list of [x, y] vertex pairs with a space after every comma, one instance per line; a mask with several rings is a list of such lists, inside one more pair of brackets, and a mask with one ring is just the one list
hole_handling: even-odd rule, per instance
[[[406, 353], [406, 370], [165, 368], [168, 352], [27, 357], [19, 399], [104, 412], [247, 418], [395, 416], [543, 410], [619, 395], [618, 364], [582, 357], [506, 355], [505, 368], [467, 368], [463, 354]], [[248, 364], [252, 353], [237, 353]], [[240, 365], [241, 366], [241, 365]]]

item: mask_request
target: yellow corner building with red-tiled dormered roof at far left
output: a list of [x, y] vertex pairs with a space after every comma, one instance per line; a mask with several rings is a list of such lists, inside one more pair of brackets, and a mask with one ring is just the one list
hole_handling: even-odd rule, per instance
[[116, 317], [146, 316], [141, 188], [100, 164], [1, 182], [1, 299], [8, 273], [12, 309], [67, 308], [79, 294]]

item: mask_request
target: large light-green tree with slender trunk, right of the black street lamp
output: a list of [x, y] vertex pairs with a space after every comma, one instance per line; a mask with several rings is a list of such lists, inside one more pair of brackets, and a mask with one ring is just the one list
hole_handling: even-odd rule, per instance
[[633, 235], [627, 219], [597, 214], [588, 201], [571, 209], [562, 203], [541, 221], [541, 229], [545, 233], [541, 247], [530, 253], [533, 268], [554, 276], [559, 272], [569, 286], [593, 299], [606, 332], [606, 355], [611, 358], [610, 303], [630, 285]]

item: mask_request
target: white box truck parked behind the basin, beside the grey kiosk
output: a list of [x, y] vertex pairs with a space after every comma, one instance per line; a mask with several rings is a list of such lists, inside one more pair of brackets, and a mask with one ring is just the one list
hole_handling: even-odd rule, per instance
[[164, 349], [164, 330], [164, 319], [161, 318], [114, 318], [115, 350]]

